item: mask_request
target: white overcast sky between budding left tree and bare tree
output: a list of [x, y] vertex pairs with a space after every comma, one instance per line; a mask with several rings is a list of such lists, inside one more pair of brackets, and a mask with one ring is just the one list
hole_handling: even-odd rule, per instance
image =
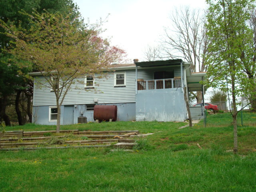
[[111, 44], [124, 49], [128, 61], [144, 60], [147, 46], [157, 45], [164, 32], [170, 27], [172, 10], [180, 6], [205, 8], [204, 0], [74, 0], [85, 21], [95, 23], [108, 16], [103, 28], [104, 38]]

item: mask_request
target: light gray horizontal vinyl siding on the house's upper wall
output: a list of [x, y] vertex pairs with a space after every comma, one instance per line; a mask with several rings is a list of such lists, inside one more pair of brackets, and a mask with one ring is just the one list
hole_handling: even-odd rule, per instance
[[[138, 79], [152, 80], [155, 71], [174, 70], [174, 76], [180, 76], [180, 68], [161, 68], [161, 69], [138, 69]], [[79, 79], [71, 86], [64, 98], [62, 105], [76, 104], [94, 104], [94, 99], [98, 99], [98, 104], [109, 103], [133, 103], [136, 102], [136, 83], [135, 68], [130, 70], [118, 70], [118, 72], [126, 72], [126, 86], [114, 87], [114, 72], [109, 72], [107, 78], [95, 78], [98, 86], [95, 89], [84, 88], [84, 78]], [[44, 80], [43, 77], [38, 79]], [[34, 86], [33, 106], [55, 106], [56, 97], [50, 88]]]

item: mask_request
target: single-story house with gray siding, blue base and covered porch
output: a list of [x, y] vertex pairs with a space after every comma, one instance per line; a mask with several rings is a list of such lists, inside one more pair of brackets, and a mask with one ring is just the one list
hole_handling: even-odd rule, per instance
[[[38, 72], [31, 75], [43, 78]], [[72, 85], [61, 106], [60, 123], [76, 124], [82, 116], [94, 121], [95, 105], [116, 105], [118, 121], [184, 121], [184, 89], [202, 91], [205, 75], [192, 73], [190, 63], [180, 59], [113, 64], [106, 78], [85, 76]], [[35, 85], [33, 122], [54, 125], [56, 119], [54, 92]]]

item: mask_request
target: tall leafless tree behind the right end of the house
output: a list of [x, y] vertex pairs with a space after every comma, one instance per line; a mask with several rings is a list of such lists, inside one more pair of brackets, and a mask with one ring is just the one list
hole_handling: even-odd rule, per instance
[[[185, 7], [175, 10], [171, 17], [171, 29], [165, 29], [162, 48], [164, 57], [191, 63], [192, 72], [206, 71], [205, 58], [209, 54], [210, 40], [205, 27], [205, 16], [200, 10], [190, 10]], [[202, 92], [196, 94], [197, 103], [202, 102]]]

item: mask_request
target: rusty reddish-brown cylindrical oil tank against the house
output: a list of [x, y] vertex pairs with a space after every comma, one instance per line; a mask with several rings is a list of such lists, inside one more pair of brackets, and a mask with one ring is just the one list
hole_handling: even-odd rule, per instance
[[117, 106], [116, 105], [95, 105], [94, 106], [94, 120], [99, 121], [116, 121], [117, 118]]

